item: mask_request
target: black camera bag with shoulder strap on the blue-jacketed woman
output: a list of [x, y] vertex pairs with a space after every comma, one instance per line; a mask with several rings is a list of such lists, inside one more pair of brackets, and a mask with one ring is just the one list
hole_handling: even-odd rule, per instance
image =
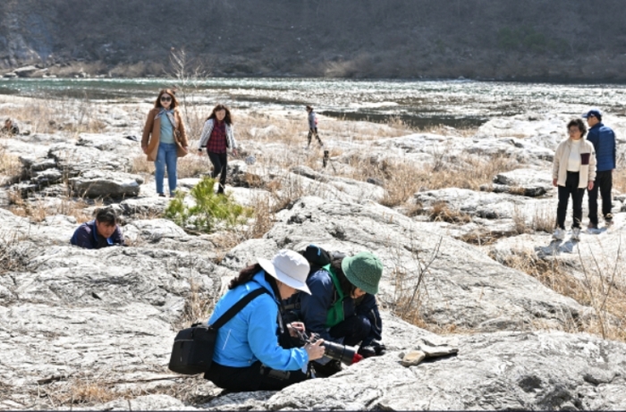
[[248, 295], [228, 309], [215, 324], [192, 324], [190, 328], [178, 332], [173, 340], [171, 371], [178, 374], [203, 374], [213, 362], [213, 351], [216, 348], [217, 330], [246, 305], [263, 293], [265, 288], [252, 290]]

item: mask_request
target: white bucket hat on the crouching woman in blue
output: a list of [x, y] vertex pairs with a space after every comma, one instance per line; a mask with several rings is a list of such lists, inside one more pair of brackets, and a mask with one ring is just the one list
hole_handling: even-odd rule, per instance
[[300, 253], [282, 249], [276, 253], [271, 261], [258, 259], [258, 264], [275, 279], [292, 288], [311, 294], [309, 286], [307, 286], [309, 262]]

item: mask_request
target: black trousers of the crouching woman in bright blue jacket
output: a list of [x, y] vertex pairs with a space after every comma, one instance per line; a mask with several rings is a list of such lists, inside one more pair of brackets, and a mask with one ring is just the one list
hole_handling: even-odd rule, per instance
[[280, 391], [310, 378], [309, 373], [277, 371], [263, 366], [260, 361], [248, 367], [222, 366], [213, 362], [204, 378], [228, 391]]

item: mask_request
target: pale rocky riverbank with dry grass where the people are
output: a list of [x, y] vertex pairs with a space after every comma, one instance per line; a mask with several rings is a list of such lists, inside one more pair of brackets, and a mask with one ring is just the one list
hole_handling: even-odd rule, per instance
[[[550, 164], [568, 115], [428, 132], [324, 119], [324, 167], [301, 114], [241, 111], [256, 163], [233, 160], [227, 191], [256, 214], [197, 234], [163, 218], [133, 138], [148, 105], [76, 103], [89, 118], [61, 120], [1, 98], [39, 115], [0, 139], [0, 408], [626, 408], [626, 118], [605, 117], [620, 139], [613, 227], [554, 241]], [[208, 170], [180, 166], [184, 191]], [[71, 247], [101, 205], [130, 246]], [[226, 280], [310, 242], [384, 262], [385, 356], [278, 392], [221, 395], [167, 370], [175, 332], [207, 318]], [[458, 353], [402, 366], [425, 345]]]

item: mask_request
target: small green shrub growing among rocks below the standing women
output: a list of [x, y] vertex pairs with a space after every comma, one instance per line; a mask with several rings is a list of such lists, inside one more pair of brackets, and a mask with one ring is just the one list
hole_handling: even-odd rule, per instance
[[227, 228], [244, 223], [252, 215], [252, 209], [239, 205], [231, 195], [217, 195], [213, 191], [215, 182], [205, 177], [191, 189], [193, 206], [185, 204], [184, 193], [176, 192], [176, 197], [165, 209], [165, 217], [184, 229], [206, 232], [214, 231], [220, 223]]

